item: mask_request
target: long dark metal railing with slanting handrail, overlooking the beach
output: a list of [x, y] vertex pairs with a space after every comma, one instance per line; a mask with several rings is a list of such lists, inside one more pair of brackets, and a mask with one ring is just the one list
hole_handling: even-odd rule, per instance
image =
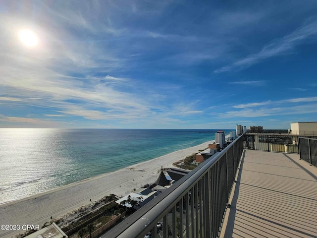
[[240, 136], [103, 237], [217, 237], [242, 152]]

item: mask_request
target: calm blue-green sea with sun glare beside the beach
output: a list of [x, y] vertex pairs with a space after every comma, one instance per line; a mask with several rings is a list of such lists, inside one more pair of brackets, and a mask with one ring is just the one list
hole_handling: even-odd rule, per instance
[[1, 128], [0, 203], [198, 145], [216, 131]]

